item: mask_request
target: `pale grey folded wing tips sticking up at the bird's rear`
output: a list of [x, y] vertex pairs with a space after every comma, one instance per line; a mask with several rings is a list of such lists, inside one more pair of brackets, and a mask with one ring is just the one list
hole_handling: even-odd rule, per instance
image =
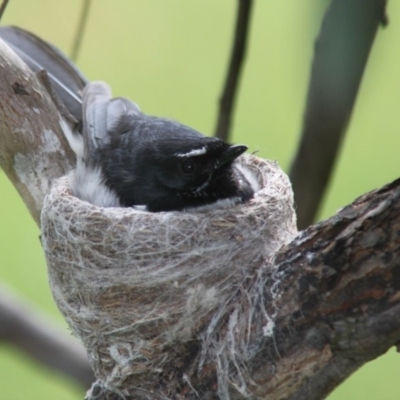
[[91, 82], [83, 91], [84, 158], [94, 157], [96, 149], [108, 145], [126, 132], [129, 122], [141, 114], [139, 107], [125, 98], [111, 98], [104, 82]]

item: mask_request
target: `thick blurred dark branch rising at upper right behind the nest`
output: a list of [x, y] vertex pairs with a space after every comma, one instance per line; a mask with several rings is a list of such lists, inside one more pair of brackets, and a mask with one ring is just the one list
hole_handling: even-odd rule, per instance
[[299, 229], [318, 211], [386, 0], [332, 0], [315, 44], [303, 130], [290, 170]]

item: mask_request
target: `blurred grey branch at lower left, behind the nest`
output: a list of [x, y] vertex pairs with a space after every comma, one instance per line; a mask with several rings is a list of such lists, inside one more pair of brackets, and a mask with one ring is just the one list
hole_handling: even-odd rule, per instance
[[28, 356], [85, 388], [94, 381], [80, 343], [3, 285], [0, 285], [0, 340], [17, 346]]

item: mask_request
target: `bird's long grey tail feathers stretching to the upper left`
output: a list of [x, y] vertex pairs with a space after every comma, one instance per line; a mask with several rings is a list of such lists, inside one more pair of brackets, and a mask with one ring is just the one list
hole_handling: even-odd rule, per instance
[[81, 94], [88, 81], [68, 57], [50, 43], [17, 27], [0, 27], [0, 38], [33, 72], [47, 71], [54, 91], [68, 111], [81, 121]]

